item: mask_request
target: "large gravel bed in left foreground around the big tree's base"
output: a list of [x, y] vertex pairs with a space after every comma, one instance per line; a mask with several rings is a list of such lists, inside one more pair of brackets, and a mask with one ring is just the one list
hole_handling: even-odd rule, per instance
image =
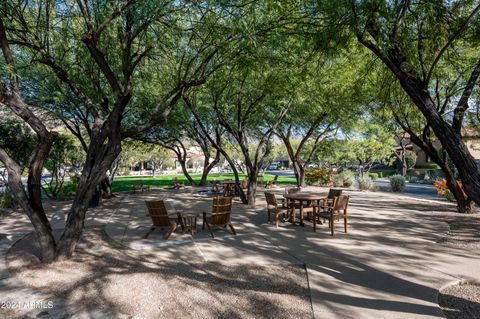
[[89, 310], [140, 318], [313, 317], [306, 271], [299, 265], [166, 259], [119, 249], [103, 228], [86, 229], [71, 260], [45, 266], [37, 255], [32, 238], [22, 239], [7, 255], [9, 271], [27, 287]]

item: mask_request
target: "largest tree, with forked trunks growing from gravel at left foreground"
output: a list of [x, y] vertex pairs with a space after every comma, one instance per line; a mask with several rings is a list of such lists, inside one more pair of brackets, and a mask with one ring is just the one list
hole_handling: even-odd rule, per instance
[[[0, 43], [9, 77], [7, 85], [2, 82], [0, 100], [38, 137], [29, 165], [28, 194], [21, 187], [18, 163], [4, 151], [0, 158], [9, 172], [9, 186], [15, 187], [16, 199], [40, 238], [43, 261], [72, 255], [88, 203], [118, 157], [121, 140], [164, 121], [183, 92], [204, 83], [228, 61], [227, 56], [235, 54], [228, 44], [239, 37], [228, 33], [228, 21], [218, 19], [215, 10], [204, 10], [183, 3], [130, 0], [113, 8], [82, 0], [75, 5], [49, 1], [45, 6], [42, 1], [28, 6], [9, 1], [0, 8]], [[184, 15], [189, 18], [180, 21]], [[21, 98], [12, 44], [21, 50], [17, 61], [34, 61], [45, 76], [58, 79], [62, 92], [75, 99], [88, 134], [82, 175], [58, 246], [40, 196], [43, 161], [56, 134], [31, 114]], [[155, 82], [152, 78], [161, 83], [147, 92]], [[65, 116], [64, 105], [48, 108], [58, 117]]]

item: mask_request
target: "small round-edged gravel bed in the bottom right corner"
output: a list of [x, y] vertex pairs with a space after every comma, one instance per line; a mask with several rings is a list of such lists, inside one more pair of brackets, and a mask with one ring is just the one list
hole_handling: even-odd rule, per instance
[[438, 303], [447, 319], [480, 318], [480, 284], [449, 286], [438, 295]]

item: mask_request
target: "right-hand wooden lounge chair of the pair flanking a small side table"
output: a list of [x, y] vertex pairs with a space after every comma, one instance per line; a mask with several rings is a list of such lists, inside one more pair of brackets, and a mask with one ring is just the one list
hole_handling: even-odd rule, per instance
[[234, 235], [237, 234], [230, 221], [232, 214], [232, 200], [233, 197], [215, 197], [213, 198], [212, 214], [207, 216], [207, 213], [203, 212], [202, 230], [204, 230], [205, 225], [207, 225], [208, 231], [210, 232], [210, 235], [212, 235], [212, 238], [215, 238], [215, 235], [212, 231], [213, 226], [228, 226]]

